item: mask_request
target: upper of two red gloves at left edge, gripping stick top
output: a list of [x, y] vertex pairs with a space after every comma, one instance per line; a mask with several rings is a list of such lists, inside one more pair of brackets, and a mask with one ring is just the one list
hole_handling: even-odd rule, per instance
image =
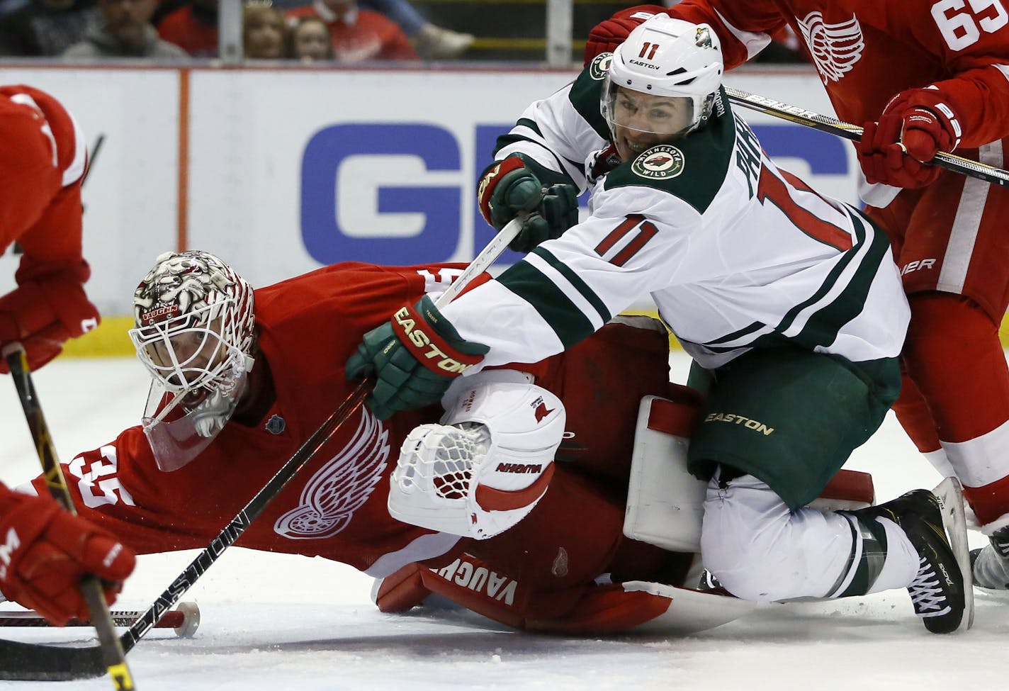
[[[77, 270], [47, 273], [0, 298], [0, 347], [20, 341], [28, 366], [38, 369], [60, 354], [68, 339], [97, 327], [98, 310], [78, 275]], [[7, 363], [0, 361], [0, 373], [7, 372]]]

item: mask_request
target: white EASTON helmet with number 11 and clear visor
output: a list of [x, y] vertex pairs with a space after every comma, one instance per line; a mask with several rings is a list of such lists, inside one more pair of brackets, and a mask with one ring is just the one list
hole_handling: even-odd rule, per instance
[[[657, 14], [638, 25], [613, 52], [604, 79], [600, 110], [609, 124], [671, 137], [695, 130], [711, 115], [724, 63], [718, 37], [707, 24], [693, 24]], [[621, 89], [660, 98], [683, 99], [683, 117], [675, 127], [647, 118], [629, 122], [618, 106]]]

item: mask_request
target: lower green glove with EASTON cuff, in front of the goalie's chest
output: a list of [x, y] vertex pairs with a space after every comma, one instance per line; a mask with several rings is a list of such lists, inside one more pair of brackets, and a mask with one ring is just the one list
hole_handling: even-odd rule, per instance
[[452, 379], [483, 359], [489, 348], [467, 341], [442, 317], [431, 298], [404, 306], [364, 334], [347, 360], [348, 379], [373, 377], [367, 405], [380, 420], [441, 400]]

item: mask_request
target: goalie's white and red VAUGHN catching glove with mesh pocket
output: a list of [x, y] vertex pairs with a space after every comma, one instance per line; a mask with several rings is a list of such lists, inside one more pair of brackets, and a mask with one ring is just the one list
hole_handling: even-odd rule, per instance
[[513, 370], [456, 379], [441, 424], [407, 437], [388, 512], [422, 528], [486, 540], [533, 510], [553, 475], [564, 405]]

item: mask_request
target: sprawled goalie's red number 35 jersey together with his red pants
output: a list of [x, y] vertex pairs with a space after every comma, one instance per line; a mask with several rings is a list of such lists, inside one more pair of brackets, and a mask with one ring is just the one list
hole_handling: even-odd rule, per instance
[[[170, 473], [157, 468], [140, 427], [124, 431], [65, 464], [80, 514], [138, 553], [206, 547], [356, 385], [346, 380], [344, 363], [362, 335], [459, 272], [445, 265], [342, 263], [256, 291], [254, 366], [268, 368], [274, 394], [254, 423], [232, 420], [194, 461]], [[566, 441], [540, 505], [521, 530], [499, 539], [472, 543], [389, 516], [400, 446], [442, 411], [379, 421], [362, 407], [237, 545], [318, 555], [377, 577], [422, 560], [441, 568], [466, 550], [468, 558], [518, 579], [508, 605], [495, 602], [513, 611], [492, 613], [514, 623], [564, 615], [602, 573], [655, 580], [660, 571], [668, 574], [668, 553], [625, 540], [621, 529], [638, 405], [644, 395], [668, 393], [668, 366], [664, 330], [612, 324], [563, 355], [522, 367], [564, 401]], [[44, 491], [41, 478], [34, 484]], [[558, 554], [567, 557], [563, 571], [554, 564]], [[615, 569], [621, 558], [628, 563]], [[549, 611], [542, 608], [547, 602]], [[654, 606], [640, 608], [637, 621], [656, 613]], [[629, 621], [636, 619], [614, 625]]]

